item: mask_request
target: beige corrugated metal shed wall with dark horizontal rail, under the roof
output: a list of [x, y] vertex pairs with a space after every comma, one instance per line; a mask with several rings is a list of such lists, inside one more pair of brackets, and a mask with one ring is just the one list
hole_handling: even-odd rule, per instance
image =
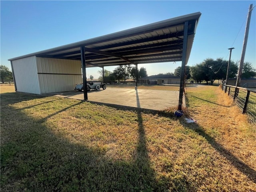
[[71, 91], [82, 82], [81, 61], [38, 57], [37, 68], [42, 94]]

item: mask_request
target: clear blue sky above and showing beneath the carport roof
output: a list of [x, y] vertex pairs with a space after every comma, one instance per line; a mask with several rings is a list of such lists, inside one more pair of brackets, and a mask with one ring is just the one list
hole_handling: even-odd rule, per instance
[[[90, 38], [201, 12], [189, 66], [206, 58], [240, 60], [250, 4], [256, 1], [2, 1], [1, 65], [8, 59]], [[252, 11], [245, 61], [256, 68], [256, 7]], [[174, 72], [181, 62], [140, 64], [148, 75]], [[105, 67], [114, 70], [116, 66]], [[98, 78], [101, 68], [87, 68]]]

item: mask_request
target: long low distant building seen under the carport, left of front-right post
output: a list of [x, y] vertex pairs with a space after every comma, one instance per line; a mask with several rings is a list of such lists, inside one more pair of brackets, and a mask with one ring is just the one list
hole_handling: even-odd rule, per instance
[[180, 77], [174, 75], [151, 75], [139, 78], [138, 83], [148, 85], [180, 84]]

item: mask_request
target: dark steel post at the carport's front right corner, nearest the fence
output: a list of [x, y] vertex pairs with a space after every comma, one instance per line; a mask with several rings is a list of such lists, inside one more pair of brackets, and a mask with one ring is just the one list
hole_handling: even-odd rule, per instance
[[179, 105], [178, 110], [182, 109], [182, 100], [185, 86], [185, 67], [186, 67], [186, 52], [188, 46], [188, 21], [184, 24], [184, 38], [183, 38], [183, 48], [182, 48], [182, 63], [180, 72], [180, 94], [179, 94]]

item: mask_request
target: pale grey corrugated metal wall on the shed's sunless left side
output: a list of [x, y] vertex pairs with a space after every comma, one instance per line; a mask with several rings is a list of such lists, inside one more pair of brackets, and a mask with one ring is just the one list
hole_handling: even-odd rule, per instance
[[12, 66], [15, 74], [17, 91], [40, 94], [36, 56], [13, 60]]

